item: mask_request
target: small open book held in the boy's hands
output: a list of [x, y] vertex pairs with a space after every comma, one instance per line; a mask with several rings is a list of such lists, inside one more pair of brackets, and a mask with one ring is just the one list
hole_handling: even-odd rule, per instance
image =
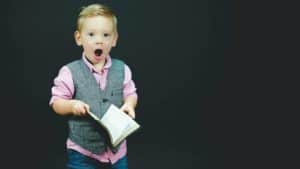
[[88, 113], [107, 130], [111, 144], [114, 147], [140, 127], [129, 115], [113, 104], [110, 105], [101, 119], [92, 112]]

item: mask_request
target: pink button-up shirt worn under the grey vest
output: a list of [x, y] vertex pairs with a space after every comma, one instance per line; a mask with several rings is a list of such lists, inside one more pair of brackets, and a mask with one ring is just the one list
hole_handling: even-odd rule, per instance
[[[99, 84], [99, 87], [103, 90], [106, 86], [108, 70], [112, 64], [111, 58], [108, 57], [106, 59], [106, 63], [101, 71], [97, 71], [84, 56], [82, 56], [82, 59], [84, 63], [89, 67], [91, 73], [93, 73], [97, 83]], [[136, 87], [132, 80], [131, 71], [127, 65], [125, 65], [125, 77], [123, 87], [124, 99], [129, 95], [137, 97]], [[67, 66], [63, 66], [60, 69], [58, 76], [54, 79], [54, 85], [51, 89], [52, 97], [50, 99], [49, 104], [51, 105], [55, 100], [60, 98], [72, 99], [74, 90], [75, 89], [71, 71]], [[121, 144], [119, 151], [115, 154], [110, 149], [108, 149], [102, 154], [93, 154], [92, 152], [72, 142], [70, 139], [67, 139], [66, 144], [68, 149], [76, 150], [88, 157], [94, 158], [101, 162], [111, 162], [112, 164], [117, 162], [123, 156], [125, 156], [127, 152], [126, 140]]]

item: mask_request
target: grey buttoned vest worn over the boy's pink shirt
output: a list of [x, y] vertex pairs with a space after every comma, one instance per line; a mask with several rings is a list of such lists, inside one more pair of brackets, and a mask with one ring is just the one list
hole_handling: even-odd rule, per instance
[[[124, 63], [122, 61], [112, 59], [104, 90], [101, 90], [82, 59], [67, 64], [67, 67], [72, 73], [75, 86], [73, 98], [87, 103], [91, 112], [101, 118], [111, 103], [121, 107], [124, 82]], [[71, 116], [68, 124], [69, 138], [84, 149], [94, 154], [100, 154], [110, 146], [107, 133], [91, 117]], [[114, 152], [118, 148], [111, 147]]]

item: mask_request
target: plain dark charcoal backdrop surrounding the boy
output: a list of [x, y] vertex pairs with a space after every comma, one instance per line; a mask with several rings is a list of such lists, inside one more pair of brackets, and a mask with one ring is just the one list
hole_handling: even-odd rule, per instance
[[299, 168], [298, 5], [221, 0], [1, 2], [0, 168], [64, 168], [50, 88], [94, 2], [116, 11], [112, 56], [138, 88], [130, 169]]

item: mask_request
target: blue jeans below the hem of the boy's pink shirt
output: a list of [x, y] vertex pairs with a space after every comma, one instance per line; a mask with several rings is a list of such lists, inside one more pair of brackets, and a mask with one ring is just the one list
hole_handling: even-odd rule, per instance
[[115, 164], [102, 163], [96, 159], [87, 157], [75, 150], [68, 149], [68, 169], [128, 169], [127, 157], [124, 156]]

